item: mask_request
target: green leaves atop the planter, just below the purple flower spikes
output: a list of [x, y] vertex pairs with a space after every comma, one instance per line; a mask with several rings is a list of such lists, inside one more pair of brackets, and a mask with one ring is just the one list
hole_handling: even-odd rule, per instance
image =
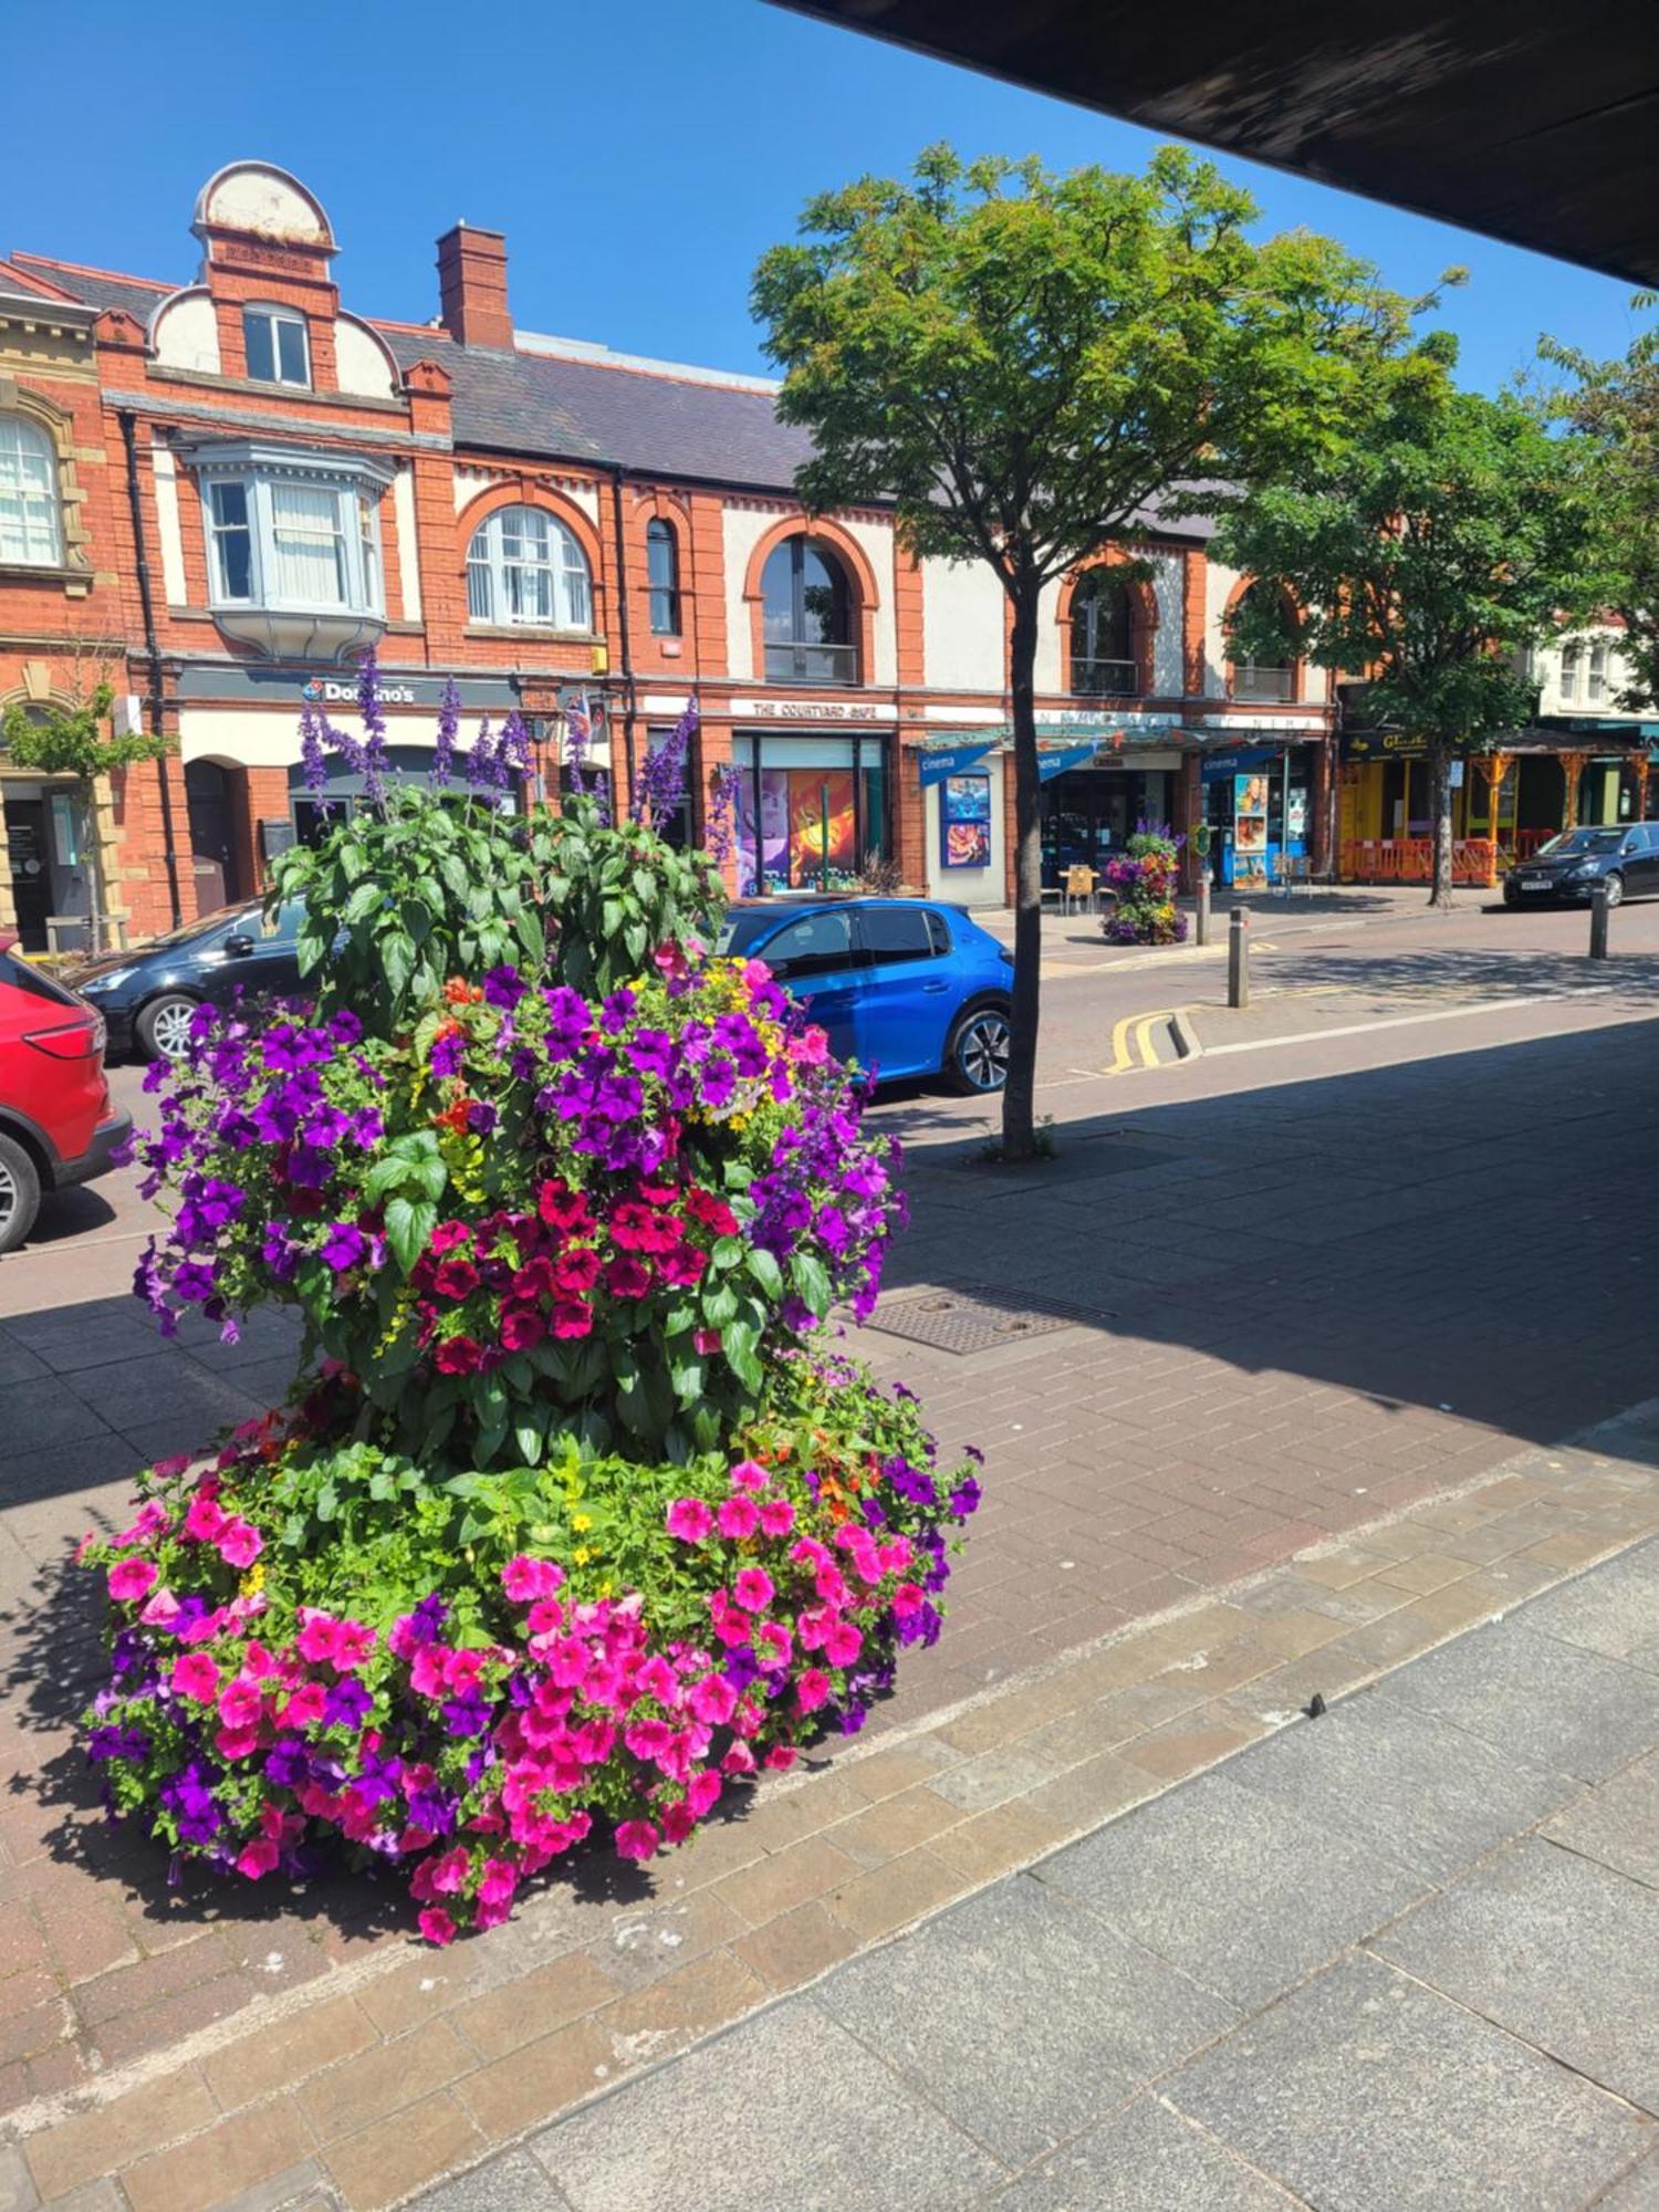
[[378, 810], [294, 845], [270, 905], [301, 900], [301, 973], [319, 1006], [374, 1035], [407, 1031], [451, 975], [513, 964], [604, 993], [668, 938], [710, 936], [719, 872], [639, 823], [608, 827], [593, 799], [529, 821], [480, 799], [396, 785]]

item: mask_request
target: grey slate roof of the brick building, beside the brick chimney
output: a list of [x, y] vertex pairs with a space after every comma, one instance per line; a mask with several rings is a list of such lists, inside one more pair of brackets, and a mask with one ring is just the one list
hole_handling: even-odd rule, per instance
[[[91, 307], [126, 307], [148, 321], [168, 285], [80, 270], [40, 254], [13, 254]], [[792, 491], [812, 453], [805, 431], [779, 422], [770, 392], [703, 383], [672, 365], [624, 367], [611, 361], [456, 345], [445, 330], [376, 323], [403, 369], [438, 361], [453, 380], [458, 447], [535, 460], [615, 465], [734, 491]], [[1150, 509], [1137, 518], [1157, 522]], [[1166, 524], [1181, 538], [1208, 538], [1201, 520]]]

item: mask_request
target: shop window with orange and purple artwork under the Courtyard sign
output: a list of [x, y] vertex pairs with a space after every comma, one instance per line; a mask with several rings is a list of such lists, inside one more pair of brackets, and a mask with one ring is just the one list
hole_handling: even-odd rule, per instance
[[878, 876], [894, 849], [891, 757], [891, 732], [739, 730], [739, 896], [856, 891]]

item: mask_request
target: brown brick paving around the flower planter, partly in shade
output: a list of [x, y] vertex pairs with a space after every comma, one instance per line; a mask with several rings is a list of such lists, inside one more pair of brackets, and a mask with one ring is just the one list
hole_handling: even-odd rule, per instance
[[[655, 1880], [582, 1869], [442, 1962], [394, 1900], [170, 1891], [97, 1820], [64, 1544], [137, 1460], [268, 1402], [292, 1336], [155, 1340], [119, 1294], [142, 1225], [119, 1186], [111, 1219], [7, 1263], [0, 2112], [27, 2188], [75, 2212], [392, 2203], [1652, 1526], [1646, 1431], [1599, 1471], [1511, 1464], [1659, 1394], [1630, 1228], [1659, 1177], [1632, 1104], [1652, 1029], [1453, 1031], [1383, 1066], [1272, 1055], [1263, 1091], [1250, 1060], [1055, 1088], [1066, 1144], [1031, 1175], [967, 1164], [958, 1108], [885, 1108], [916, 1203], [889, 1298], [991, 1283], [1088, 1314], [969, 1356], [860, 1340], [949, 1447], [989, 1451], [947, 1637], [827, 1770]], [[1060, 1077], [1064, 1026], [1055, 1051]], [[124, 2197], [75, 2194], [117, 2172]]]

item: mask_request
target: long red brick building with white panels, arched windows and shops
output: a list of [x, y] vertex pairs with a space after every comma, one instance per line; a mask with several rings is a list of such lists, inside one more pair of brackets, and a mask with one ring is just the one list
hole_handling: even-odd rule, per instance
[[[878, 507], [807, 524], [805, 442], [768, 380], [515, 330], [507, 243], [465, 223], [438, 241], [434, 321], [356, 316], [323, 206], [265, 164], [219, 170], [192, 230], [181, 283], [0, 261], [0, 706], [108, 668], [117, 717], [177, 739], [102, 812], [0, 759], [0, 925], [44, 942], [49, 914], [102, 900], [133, 938], [257, 891], [314, 821], [301, 699], [352, 726], [367, 644], [405, 774], [451, 677], [467, 723], [526, 717], [546, 790], [577, 703], [626, 790], [695, 695], [686, 830], [730, 763], [739, 887], [878, 867], [1009, 896], [1000, 588], [911, 562]], [[1245, 783], [1239, 872], [1285, 832], [1323, 869], [1325, 675], [1232, 668], [1221, 617], [1245, 582], [1201, 524], [1146, 522], [1150, 580], [1108, 557], [1051, 593], [1048, 874], [1141, 816], [1208, 812], [1230, 845]], [[349, 803], [352, 779], [327, 796]], [[88, 847], [102, 878], [64, 858]]]

